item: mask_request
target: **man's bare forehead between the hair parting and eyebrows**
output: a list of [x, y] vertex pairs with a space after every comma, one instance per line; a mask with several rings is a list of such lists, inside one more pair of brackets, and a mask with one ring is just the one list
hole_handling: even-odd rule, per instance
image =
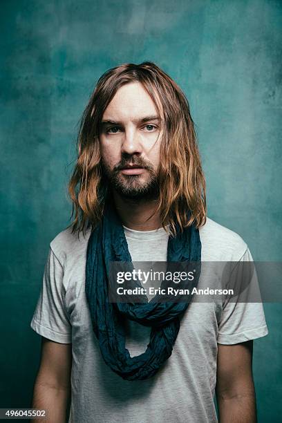
[[[157, 95], [158, 98], [158, 95]], [[160, 101], [158, 100], [160, 111]], [[103, 120], [134, 120], [147, 115], [158, 115], [158, 110], [140, 82], [121, 86], [104, 111]]]

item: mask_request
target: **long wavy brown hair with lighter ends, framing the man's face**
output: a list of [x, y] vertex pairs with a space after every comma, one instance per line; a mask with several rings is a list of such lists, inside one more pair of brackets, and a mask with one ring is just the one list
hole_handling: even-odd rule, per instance
[[[73, 232], [101, 220], [107, 189], [102, 172], [100, 124], [106, 107], [124, 84], [140, 82], [149, 93], [156, 109], [164, 117], [164, 131], [160, 143], [158, 174], [160, 196], [156, 212], [160, 212], [162, 227], [176, 235], [194, 224], [200, 227], [206, 221], [205, 177], [200, 162], [194, 122], [185, 94], [176, 82], [156, 64], [122, 64], [106, 71], [84, 110], [77, 136], [77, 163], [68, 183], [68, 194], [73, 203], [69, 225]], [[190, 211], [190, 212], [189, 212]]]

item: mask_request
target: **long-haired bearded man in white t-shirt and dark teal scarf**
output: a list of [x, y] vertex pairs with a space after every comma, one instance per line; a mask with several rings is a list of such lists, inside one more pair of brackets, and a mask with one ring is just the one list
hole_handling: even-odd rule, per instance
[[240, 236], [206, 216], [185, 95], [151, 62], [109, 70], [84, 111], [78, 152], [75, 220], [50, 243], [31, 322], [43, 337], [33, 406], [52, 423], [65, 421], [70, 394], [69, 422], [217, 422], [216, 391], [220, 422], [255, 422], [261, 303], [191, 301], [174, 317], [162, 308], [165, 323], [159, 306], [148, 315], [151, 302], [106, 298], [109, 261], [167, 261], [176, 242], [188, 259], [252, 261]]

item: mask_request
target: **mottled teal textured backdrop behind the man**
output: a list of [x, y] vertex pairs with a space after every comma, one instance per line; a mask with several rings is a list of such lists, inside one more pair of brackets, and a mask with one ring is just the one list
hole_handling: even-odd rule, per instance
[[[1, 1], [0, 407], [30, 406], [30, 320], [48, 244], [70, 220], [77, 122], [106, 69], [156, 62], [198, 128], [208, 216], [281, 261], [281, 1]], [[281, 304], [254, 341], [259, 422], [279, 422]]]

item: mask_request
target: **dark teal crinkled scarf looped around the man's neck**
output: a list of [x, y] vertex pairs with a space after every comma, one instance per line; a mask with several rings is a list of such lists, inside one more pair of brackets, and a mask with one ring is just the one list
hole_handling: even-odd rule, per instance
[[[200, 262], [200, 259], [200, 236], [194, 226], [183, 232], [178, 229], [174, 238], [169, 236], [168, 262]], [[112, 261], [131, 262], [131, 255], [120, 218], [113, 205], [107, 203], [100, 225], [88, 240], [86, 254], [85, 292], [93, 330], [105, 363], [115, 373], [128, 380], [147, 379], [155, 375], [170, 357], [180, 328], [180, 317], [189, 303], [148, 302], [146, 296], [147, 301], [143, 303], [110, 303], [108, 275]], [[147, 350], [137, 357], [131, 357], [125, 348], [124, 318], [151, 326]]]

